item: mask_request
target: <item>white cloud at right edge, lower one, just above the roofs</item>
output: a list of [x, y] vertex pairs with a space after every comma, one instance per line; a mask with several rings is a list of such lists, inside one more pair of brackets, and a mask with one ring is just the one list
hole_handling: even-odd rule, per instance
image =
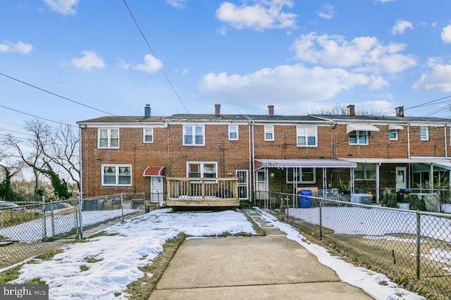
[[[433, 61], [431, 61], [431, 64]], [[433, 65], [431, 71], [421, 75], [421, 79], [412, 86], [414, 91], [439, 89], [451, 92], [451, 65]]]

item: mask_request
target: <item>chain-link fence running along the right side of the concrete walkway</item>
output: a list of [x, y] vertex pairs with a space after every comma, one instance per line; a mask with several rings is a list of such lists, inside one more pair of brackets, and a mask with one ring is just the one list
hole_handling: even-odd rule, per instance
[[256, 204], [428, 299], [451, 299], [450, 213], [352, 203], [322, 192], [328, 196], [261, 192]]

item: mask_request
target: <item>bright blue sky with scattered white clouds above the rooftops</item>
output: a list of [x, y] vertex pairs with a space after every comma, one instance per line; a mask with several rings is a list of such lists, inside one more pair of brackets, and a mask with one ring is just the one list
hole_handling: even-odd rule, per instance
[[145, 104], [451, 116], [449, 0], [125, 2], [150, 49], [123, 0], [2, 1], [0, 128], [20, 131], [24, 113], [75, 125]]

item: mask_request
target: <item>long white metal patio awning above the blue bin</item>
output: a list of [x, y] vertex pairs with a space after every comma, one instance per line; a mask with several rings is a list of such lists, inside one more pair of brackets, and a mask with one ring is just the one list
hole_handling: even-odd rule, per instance
[[357, 163], [335, 159], [256, 159], [255, 169], [261, 168], [356, 168]]

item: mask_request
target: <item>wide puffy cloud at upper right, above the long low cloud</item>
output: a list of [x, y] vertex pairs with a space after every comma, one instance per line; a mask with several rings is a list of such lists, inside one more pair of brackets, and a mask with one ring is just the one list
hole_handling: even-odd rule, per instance
[[416, 65], [413, 56], [399, 54], [405, 48], [405, 44], [395, 43], [384, 46], [376, 37], [356, 37], [348, 42], [340, 35], [316, 32], [301, 35], [293, 45], [299, 61], [376, 73], [398, 73]]

